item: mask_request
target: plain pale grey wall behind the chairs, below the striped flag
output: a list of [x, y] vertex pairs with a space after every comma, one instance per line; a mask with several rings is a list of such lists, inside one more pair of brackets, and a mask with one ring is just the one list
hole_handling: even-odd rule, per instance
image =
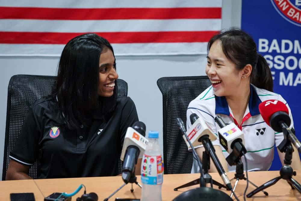
[[[222, 29], [240, 27], [241, 0], [224, 0]], [[58, 57], [0, 57], [0, 178], [2, 178], [7, 88], [11, 76], [16, 74], [55, 75]], [[128, 82], [130, 96], [136, 104], [139, 120], [149, 130], [160, 133], [163, 150], [162, 94], [157, 79], [165, 76], [205, 75], [206, 55], [178, 56], [117, 56], [117, 73]]]

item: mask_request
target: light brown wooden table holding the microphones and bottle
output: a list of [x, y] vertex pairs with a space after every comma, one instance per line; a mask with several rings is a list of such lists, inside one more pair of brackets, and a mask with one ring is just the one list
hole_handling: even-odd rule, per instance
[[[301, 183], [301, 171], [296, 171], [297, 176], [293, 178]], [[210, 173], [210, 175], [216, 181], [222, 183], [222, 179], [218, 173]], [[260, 186], [274, 177], [279, 176], [279, 171], [263, 171], [263, 172], [249, 172], [249, 179], [256, 185]], [[228, 173], [229, 179], [234, 177], [234, 173]], [[178, 174], [178, 175], [164, 175], [162, 186], [162, 199], [172, 200], [182, 192], [198, 187], [197, 185], [179, 189], [174, 191], [175, 187], [179, 185], [190, 182], [194, 179], [199, 178], [199, 174]], [[137, 181], [141, 184], [140, 176], [138, 176]], [[54, 192], [66, 192], [71, 193], [79, 186], [79, 184], [84, 184], [87, 188], [87, 193], [94, 192], [98, 194], [98, 200], [102, 201], [104, 198], [109, 196], [123, 184], [120, 176], [116, 177], [90, 177], [90, 178], [70, 178], [70, 179], [37, 179], [35, 180], [37, 186], [41, 189], [43, 196], [48, 196]], [[234, 180], [231, 182], [234, 186]], [[37, 186], [34, 185], [33, 180], [23, 180], [23, 181], [3, 181], [0, 182], [0, 200], [9, 200], [9, 193], [11, 192], [33, 192], [35, 193], [36, 200], [43, 200], [42, 194], [39, 192]], [[130, 185], [127, 184], [121, 190], [119, 190], [112, 198], [109, 200], [114, 201], [116, 197], [121, 198], [140, 198], [141, 189], [134, 184], [134, 192], [131, 193]], [[235, 193], [238, 198], [242, 201], [244, 189], [246, 187], [246, 181], [240, 180], [236, 187]], [[217, 188], [217, 187], [215, 187]], [[255, 187], [249, 184], [247, 193], [254, 190]], [[223, 190], [230, 195], [230, 191]], [[266, 189], [269, 196], [265, 196], [262, 192], [257, 193], [252, 198], [247, 198], [247, 200], [301, 200], [301, 194], [296, 190], [291, 190], [290, 185], [283, 179], [279, 180], [275, 185]], [[84, 190], [80, 190], [76, 196], [73, 196], [72, 200], [76, 200], [83, 194]], [[2, 199], [3, 198], [3, 199]], [[234, 197], [233, 197], [234, 198]]]

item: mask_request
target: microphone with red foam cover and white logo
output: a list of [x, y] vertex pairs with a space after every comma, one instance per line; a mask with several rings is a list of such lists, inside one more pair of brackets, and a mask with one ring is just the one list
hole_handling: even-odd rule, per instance
[[[287, 132], [288, 139], [301, 153], [301, 143], [289, 128], [291, 120], [288, 108], [278, 100], [267, 100], [259, 104], [259, 112], [267, 125], [276, 132]], [[284, 135], [284, 137], [286, 137]]]

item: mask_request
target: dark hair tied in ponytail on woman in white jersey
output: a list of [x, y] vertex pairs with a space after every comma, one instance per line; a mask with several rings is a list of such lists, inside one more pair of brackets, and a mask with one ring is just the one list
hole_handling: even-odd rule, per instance
[[252, 66], [250, 82], [258, 88], [273, 91], [272, 73], [265, 58], [257, 53], [253, 38], [238, 28], [221, 31], [208, 42], [207, 52], [215, 41], [220, 41], [226, 57], [242, 70], [247, 64]]

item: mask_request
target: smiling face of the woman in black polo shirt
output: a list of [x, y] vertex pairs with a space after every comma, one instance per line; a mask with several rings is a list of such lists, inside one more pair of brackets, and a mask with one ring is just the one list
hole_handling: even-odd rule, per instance
[[102, 97], [111, 97], [115, 86], [115, 80], [118, 79], [116, 73], [116, 63], [113, 52], [106, 48], [99, 57], [99, 85], [98, 95]]

